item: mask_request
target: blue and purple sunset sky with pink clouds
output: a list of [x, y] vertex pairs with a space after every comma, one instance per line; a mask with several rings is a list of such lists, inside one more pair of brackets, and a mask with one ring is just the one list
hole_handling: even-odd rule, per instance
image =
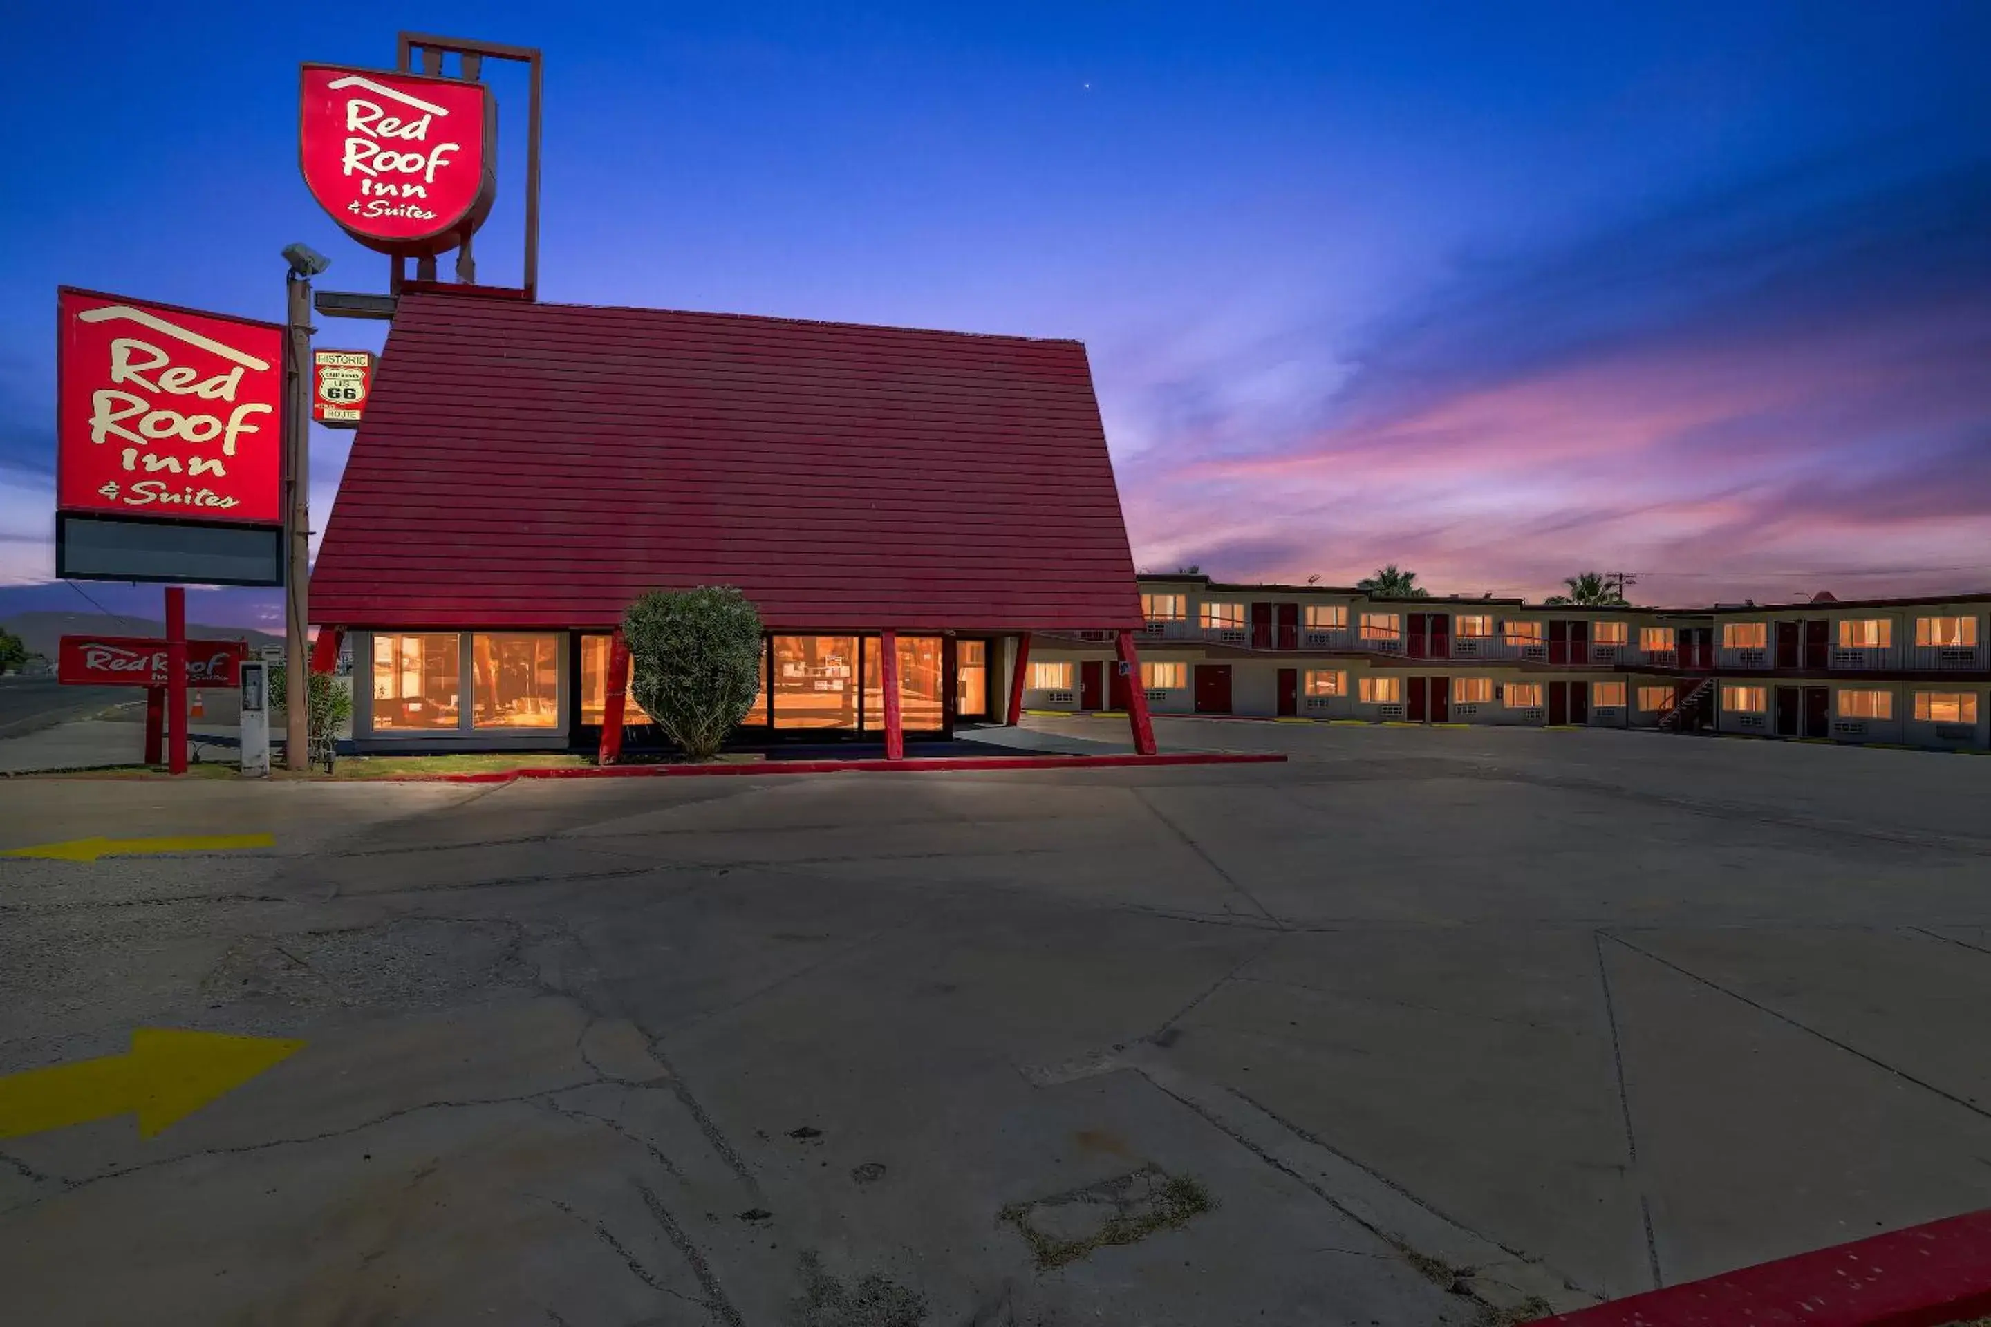
[[0, 585], [54, 573], [56, 284], [279, 318], [301, 239], [384, 288], [299, 181], [297, 64], [410, 28], [546, 50], [544, 298], [1085, 340], [1143, 569], [1991, 589], [1991, 4], [191, 14], [0, 18]]

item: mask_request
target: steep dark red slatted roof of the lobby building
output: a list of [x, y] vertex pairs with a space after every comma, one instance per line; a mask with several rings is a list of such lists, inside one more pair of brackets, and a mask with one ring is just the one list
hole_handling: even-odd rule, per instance
[[311, 577], [342, 627], [1137, 627], [1085, 346], [402, 294]]

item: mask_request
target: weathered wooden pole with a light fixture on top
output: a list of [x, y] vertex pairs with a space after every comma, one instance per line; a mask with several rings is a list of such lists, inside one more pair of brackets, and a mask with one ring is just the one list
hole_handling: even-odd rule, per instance
[[289, 314], [283, 338], [283, 481], [285, 481], [285, 593], [283, 593], [283, 768], [311, 768], [311, 279], [332, 265], [309, 245], [283, 251]]

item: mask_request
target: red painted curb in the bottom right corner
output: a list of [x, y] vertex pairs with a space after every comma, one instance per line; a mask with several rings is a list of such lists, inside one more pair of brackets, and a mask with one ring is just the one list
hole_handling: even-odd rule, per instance
[[1991, 1313], [1991, 1208], [1545, 1317], [1537, 1327], [1943, 1327]]

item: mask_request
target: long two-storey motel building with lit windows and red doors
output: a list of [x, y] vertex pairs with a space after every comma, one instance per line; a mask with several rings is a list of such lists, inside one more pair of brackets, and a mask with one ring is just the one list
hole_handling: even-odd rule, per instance
[[[1595, 609], [1372, 601], [1356, 589], [1143, 575], [1155, 714], [1702, 730], [1991, 748], [1991, 595]], [[1103, 633], [1037, 637], [1027, 710], [1123, 710]]]

